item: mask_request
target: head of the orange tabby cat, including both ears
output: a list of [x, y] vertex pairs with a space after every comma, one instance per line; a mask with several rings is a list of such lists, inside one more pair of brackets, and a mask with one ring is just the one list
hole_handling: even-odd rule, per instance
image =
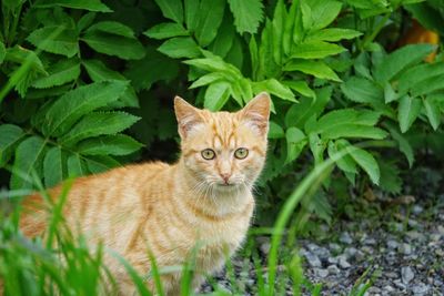
[[202, 187], [251, 187], [265, 162], [271, 100], [260, 93], [238, 112], [210, 112], [174, 99], [182, 161]]

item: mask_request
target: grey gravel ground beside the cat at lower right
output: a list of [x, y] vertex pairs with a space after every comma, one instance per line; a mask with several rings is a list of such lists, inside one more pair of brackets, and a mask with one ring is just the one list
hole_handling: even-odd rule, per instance
[[[432, 193], [417, 198], [407, 195], [360, 202], [356, 208], [365, 210], [354, 213], [353, 218], [321, 225], [321, 233], [326, 235], [299, 239], [305, 277], [322, 283], [322, 295], [349, 294], [365, 272], [365, 278], [373, 278], [365, 295], [444, 295], [442, 186], [437, 182]], [[414, 193], [408, 187], [404, 192]], [[270, 242], [266, 237], [256, 241], [265, 259]], [[238, 257], [232, 262], [240, 286], [236, 295], [239, 290], [241, 295], [256, 295], [251, 259]], [[232, 293], [235, 288], [228, 277], [226, 271], [221, 272], [215, 277], [216, 286]], [[211, 290], [210, 285], [201, 288], [202, 293]]]

